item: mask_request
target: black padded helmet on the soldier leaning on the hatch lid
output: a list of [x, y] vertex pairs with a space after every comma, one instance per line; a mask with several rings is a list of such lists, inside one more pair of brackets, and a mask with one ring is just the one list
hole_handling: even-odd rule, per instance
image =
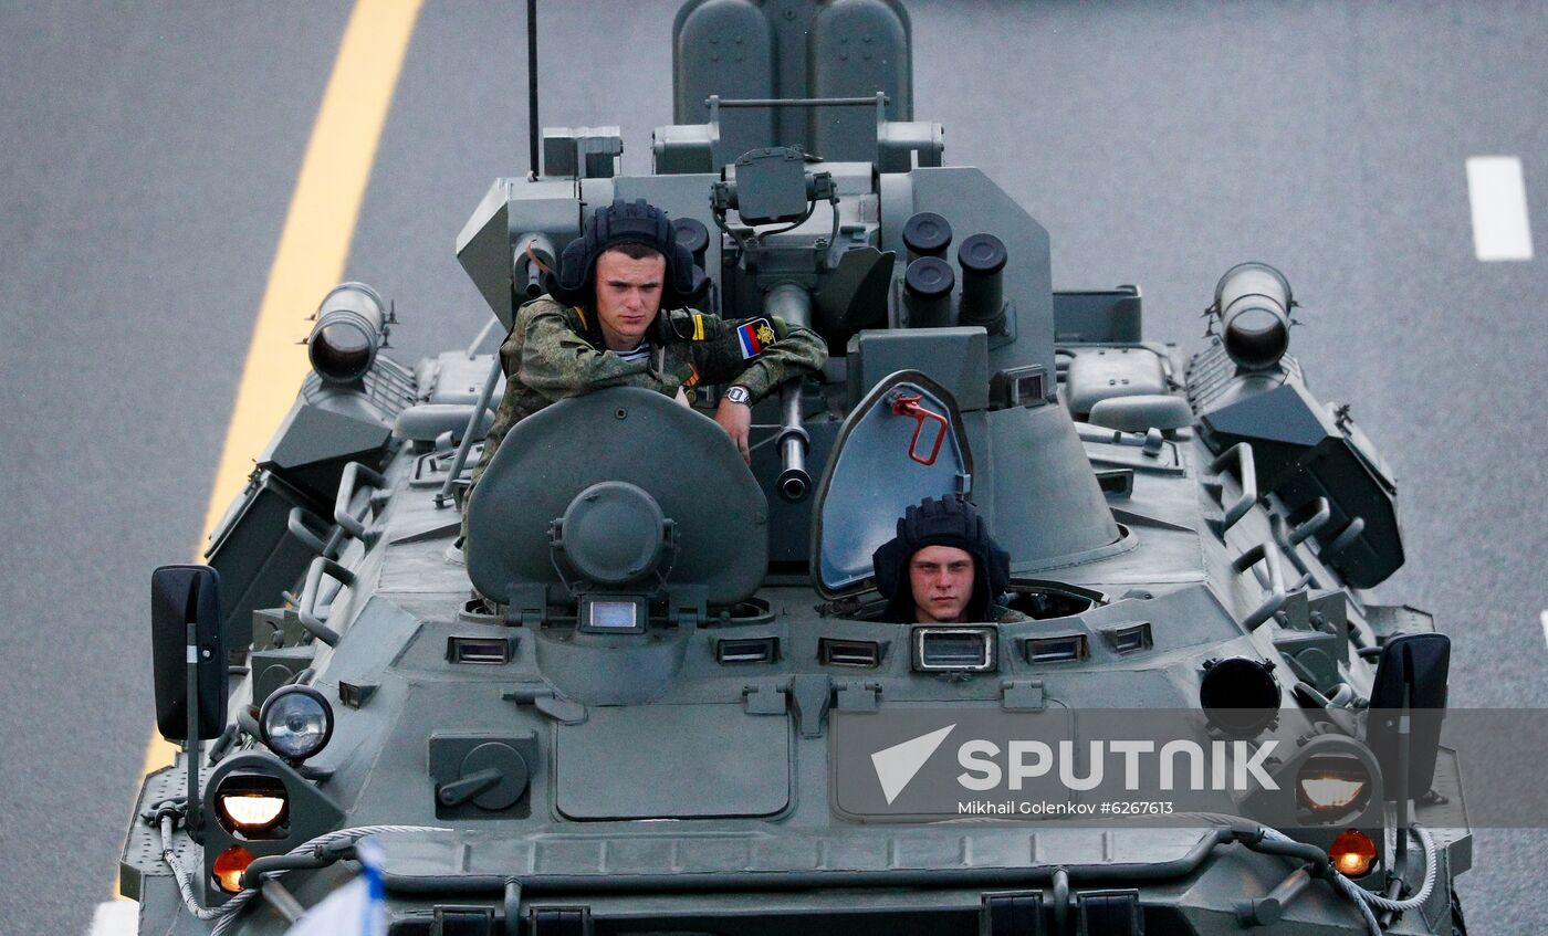
[[560, 254], [559, 269], [548, 274], [548, 294], [565, 305], [596, 303], [596, 258], [608, 248], [624, 243], [644, 244], [666, 257], [663, 311], [690, 306], [709, 291], [709, 278], [694, 266], [694, 254], [676, 241], [666, 212], [644, 198], [619, 198], [585, 220], [580, 237], [570, 241]]

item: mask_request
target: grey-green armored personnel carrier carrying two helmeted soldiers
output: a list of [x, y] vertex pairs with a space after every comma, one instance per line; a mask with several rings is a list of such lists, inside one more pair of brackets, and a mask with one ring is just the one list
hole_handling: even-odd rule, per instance
[[[827, 368], [757, 405], [751, 464], [715, 387], [616, 388], [520, 421], [469, 497], [500, 362], [396, 364], [392, 306], [330, 292], [209, 566], [153, 579], [186, 752], [124, 846], [139, 931], [283, 933], [367, 837], [406, 936], [1461, 931], [1447, 644], [1367, 594], [1396, 487], [1288, 353], [1286, 278], [1206, 285], [1192, 354], [1135, 286], [1054, 291], [1048, 232], [913, 119], [896, 0], [690, 0], [673, 53], [650, 175], [548, 128], [458, 258], [509, 328], [644, 198], [706, 311]], [[927, 497], [977, 506], [1020, 620], [881, 620], [872, 554]], [[1033, 800], [1033, 736], [1159, 781]], [[1189, 736], [1214, 781], [1172, 774]]]

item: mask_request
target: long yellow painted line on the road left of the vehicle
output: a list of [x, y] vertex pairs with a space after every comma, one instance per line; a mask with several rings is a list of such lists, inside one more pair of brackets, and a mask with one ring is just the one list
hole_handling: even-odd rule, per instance
[[[296, 342], [307, 334], [303, 319], [344, 277], [361, 200], [376, 161], [376, 142], [387, 122], [421, 2], [358, 0], [344, 29], [259, 305], [204, 514], [200, 557], [226, 506], [246, 484], [254, 456], [289, 412], [310, 370], [307, 351]], [[153, 735], [146, 750], [146, 772], [170, 764], [175, 750], [161, 735]]]

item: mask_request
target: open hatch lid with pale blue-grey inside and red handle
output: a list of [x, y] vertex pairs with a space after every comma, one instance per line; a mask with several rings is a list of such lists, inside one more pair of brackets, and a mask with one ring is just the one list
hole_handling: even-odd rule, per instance
[[[898, 412], [910, 408], [909, 401], [915, 415]], [[952, 395], [913, 370], [879, 381], [844, 421], [817, 483], [811, 524], [817, 591], [836, 599], [870, 588], [872, 554], [896, 535], [904, 509], [971, 487], [972, 450]]]

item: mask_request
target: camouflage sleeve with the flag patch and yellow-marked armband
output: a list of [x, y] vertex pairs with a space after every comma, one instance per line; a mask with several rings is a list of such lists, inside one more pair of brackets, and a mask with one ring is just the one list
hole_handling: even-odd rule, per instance
[[[701, 382], [735, 384], [746, 387], [752, 399], [762, 399], [791, 377], [822, 370], [828, 360], [828, 345], [817, 333], [786, 325], [783, 319], [703, 319], [704, 340], [694, 343], [694, 365]], [[760, 337], [760, 325], [772, 336], [765, 331]]]

